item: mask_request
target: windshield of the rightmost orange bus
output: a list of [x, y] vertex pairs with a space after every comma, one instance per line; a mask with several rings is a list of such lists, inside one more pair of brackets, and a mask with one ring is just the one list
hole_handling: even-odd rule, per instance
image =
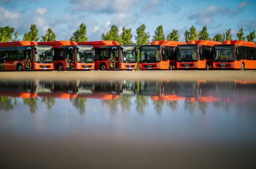
[[235, 61], [235, 48], [230, 46], [215, 47], [214, 61], [216, 62], [233, 62]]

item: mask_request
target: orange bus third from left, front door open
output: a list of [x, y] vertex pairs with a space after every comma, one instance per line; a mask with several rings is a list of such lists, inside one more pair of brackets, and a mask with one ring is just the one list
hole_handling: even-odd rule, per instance
[[95, 50], [95, 69], [137, 69], [136, 46], [120, 45], [116, 41], [77, 42], [92, 45]]

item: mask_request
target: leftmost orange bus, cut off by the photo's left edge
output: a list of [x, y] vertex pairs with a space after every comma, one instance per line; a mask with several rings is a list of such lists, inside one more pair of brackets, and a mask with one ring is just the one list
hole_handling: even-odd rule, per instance
[[54, 69], [52, 46], [33, 41], [0, 43], [0, 70]]

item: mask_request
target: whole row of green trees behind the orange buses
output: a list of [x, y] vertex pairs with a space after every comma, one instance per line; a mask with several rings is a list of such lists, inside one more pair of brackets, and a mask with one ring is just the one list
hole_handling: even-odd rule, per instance
[[[31, 24], [30, 31], [23, 35], [23, 41], [38, 41], [39, 40], [38, 32], [39, 32], [39, 29], [36, 27], [36, 24]], [[73, 32], [73, 35], [70, 37], [70, 40], [76, 41], [76, 42], [86, 42], [88, 41], [88, 37], [86, 36], [86, 34], [87, 34], [86, 25], [84, 23], [81, 23], [79, 29]], [[101, 40], [117, 41], [120, 44], [136, 44], [137, 46], [150, 44], [151, 36], [150, 36], [150, 33], [146, 31], [145, 24], [140, 25], [136, 29], [136, 35], [135, 35], [136, 43], [132, 42], [132, 36], [133, 36], [132, 28], [123, 27], [120, 33], [117, 25], [112, 25], [109, 31], [101, 35]], [[213, 38], [211, 38], [207, 31], [206, 26], [204, 26], [202, 30], [197, 31], [194, 25], [192, 25], [189, 30], [185, 30], [184, 37], [185, 37], [185, 42], [194, 41], [194, 40], [213, 40], [213, 41], [219, 41], [219, 42], [233, 40], [231, 29], [227, 29], [225, 33], [216, 34]], [[247, 41], [249, 42], [255, 42], [254, 40], [256, 38], [255, 31], [251, 31], [247, 36], [245, 36], [244, 29], [241, 28], [236, 34], [236, 40], [245, 41], [246, 38], [247, 38]], [[180, 34], [178, 30], [173, 29], [165, 37], [163, 26], [159, 25], [156, 28], [155, 34], [152, 36], [151, 41], [162, 41], [162, 40], [179, 41]], [[0, 42], [9, 42], [9, 41], [18, 41], [18, 32], [15, 31], [15, 28], [9, 27], [9, 25], [7, 27], [0, 27]], [[47, 29], [45, 35], [42, 35], [41, 42], [46, 42], [46, 41], [56, 41], [55, 32], [51, 28]]]

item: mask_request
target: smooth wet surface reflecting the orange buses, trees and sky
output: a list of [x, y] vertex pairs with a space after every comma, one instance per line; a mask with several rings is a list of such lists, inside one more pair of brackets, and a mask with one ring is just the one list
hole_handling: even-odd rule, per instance
[[0, 157], [21, 168], [252, 167], [255, 101], [254, 81], [0, 80]]

